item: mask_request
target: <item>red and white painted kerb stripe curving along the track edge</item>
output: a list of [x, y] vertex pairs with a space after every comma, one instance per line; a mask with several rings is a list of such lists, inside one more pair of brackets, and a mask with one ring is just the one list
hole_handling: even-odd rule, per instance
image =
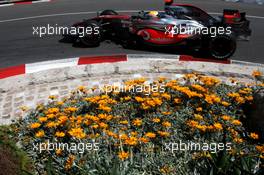
[[82, 56], [76, 58], [68, 58], [61, 60], [44, 61], [38, 63], [23, 64], [19, 66], [12, 66], [8, 68], [0, 68], [0, 79], [21, 75], [21, 74], [31, 74], [35, 72], [45, 71], [49, 69], [65, 68], [78, 65], [86, 64], [100, 64], [100, 63], [115, 63], [124, 62], [134, 59], [174, 59], [177, 61], [190, 61], [190, 62], [210, 62], [217, 64], [239, 64], [248, 66], [259, 66], [264, 67], [263, 64], [244, 62], [238, 60], [212, 60], [205, 58], [194, 58], [188, 55], [147, 55], [147, 54], [122, 54], [122, 55], [103, 55], [103, 56]]

